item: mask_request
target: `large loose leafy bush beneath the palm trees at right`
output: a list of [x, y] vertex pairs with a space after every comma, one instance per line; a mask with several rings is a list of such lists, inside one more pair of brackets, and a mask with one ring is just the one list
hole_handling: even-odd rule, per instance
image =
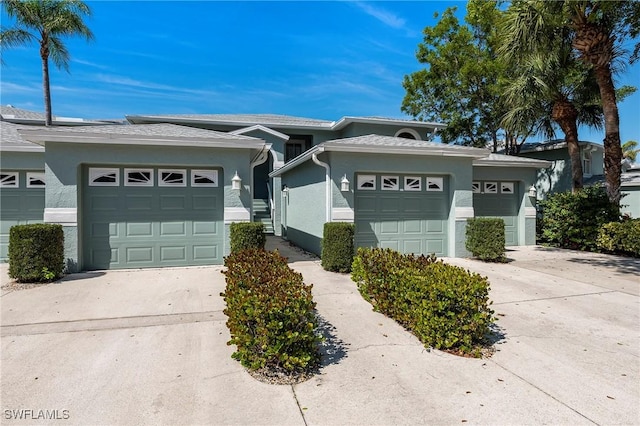
[[609, 201], [602, 186], [552, 194], [540, 205], [543, 241], [567, 249], [596, 251], [600, 228], [620, 217], [620, 207]]

